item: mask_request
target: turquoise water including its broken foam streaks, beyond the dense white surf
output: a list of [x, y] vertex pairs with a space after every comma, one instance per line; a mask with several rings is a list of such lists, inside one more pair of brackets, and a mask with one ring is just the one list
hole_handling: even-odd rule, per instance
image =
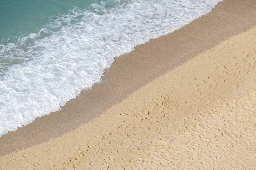
[[102, 15], [108, 9], [127, 3], [129, 1], [126, 0], [1, 1], [0, 80], [9, 67], [23, 64], [35, 56], [26, 53], [35, 47], [38, 40], [61, 31], [67, 25], [84, 22], [83, 12]]

